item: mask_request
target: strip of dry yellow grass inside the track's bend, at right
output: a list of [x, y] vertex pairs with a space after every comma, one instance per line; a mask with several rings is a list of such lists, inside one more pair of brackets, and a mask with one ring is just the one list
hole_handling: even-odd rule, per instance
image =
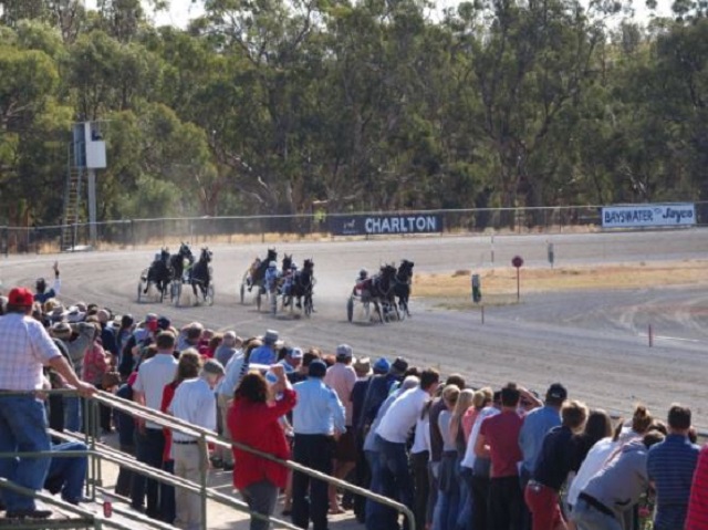
[[[457, 305], [471, 297], [469, 270], [447, 274], [415, 274], [415, 297], [449, 300]], [[485, 303], [516, 302], [517, 271], [500, 268], [480, 273]], [[587, 289], [616, 290], [643, 289], [664, 285], [708, 284], [708, 261], [686, 260], [676, 262], [563, 267], [558, 269], [520, 270], [521, 293], [582, 291]], [[456, 302], [457, 301], [457, 302]]]

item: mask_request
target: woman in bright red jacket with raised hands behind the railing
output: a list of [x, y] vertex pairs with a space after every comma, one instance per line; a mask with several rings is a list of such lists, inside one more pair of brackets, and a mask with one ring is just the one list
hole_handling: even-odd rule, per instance
[[[290, 448], [285, 434], [278, 422], [295, 406], [292, 389], [282, 365], [271, 372], [278, 377], [269, 388], [260, 373], [247, 374], [233, 394], [228, 424], [233, 441], [287, 460]], [[273, 401], [271, 396], [281, 394]], [[251, 511], [271, 516], [278, 501], [278, 491], [288, 482], [288, 468], [266, 460], [251, 453], [233, 448], [233, 486], [241, 492]], [[268, 530], [268, 521], [251, 516], [250, 530]]]

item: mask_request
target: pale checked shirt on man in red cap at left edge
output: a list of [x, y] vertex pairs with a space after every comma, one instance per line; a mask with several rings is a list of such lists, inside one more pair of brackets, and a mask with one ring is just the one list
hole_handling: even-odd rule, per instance
[[37, 320], [21, 313], [0, 318], [0, 389], [42, 388], [42, 367], [61, 352]]

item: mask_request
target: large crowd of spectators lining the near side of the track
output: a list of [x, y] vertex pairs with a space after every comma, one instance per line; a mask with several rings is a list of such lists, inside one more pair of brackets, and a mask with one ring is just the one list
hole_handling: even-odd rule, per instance
[[[0, 318], [0, 341], [18, 344], [0, 347], [2, 391], [113, 392], [398, 500], [418, 529], [634, 530], [647, 518], [655, 530], [708, 529], [708, 449], [696, 445], [686, 406], [670, 405], [657, 417], [637, 405], [626, 422], [613, 420], [560, 383], [542, 394], [514, 383], [471, 388], [462, 375], [441, 378], [403, 357], [357, 358], [347, 344], [327, 354], [287, 344], [274, 330], [241, 339], [197, 322], [177, 329], [153, 313], [136, 322], [96, 304], [65, 308], [56, 298], [58, 268], [55, 280], [51, 297], [38, 284], [34, 300], [13, 290], [1, 308], [9, 314]], [[17, 339], [24, 334], [30, 346]], [[43, 365], [45, 381], [18, 386], [3, 376], [19, 370], [19, 355], [35, 360], [32, 374]], [[0, 450], [21, 445], [8, 408], [17, 402], [7, 399], [0, 395]], [[50, 397], [49, 426], [88, 428], [80, 399]], [[367, 530], [409, 528], [392, 508], [291, 472], [241, 445], [205, 454], [194, 436], [108, 408], [93, 428], [101, 436], [117, 429], [123, 451], [184, 479], [198, 481], [205, 469], [230, 471], [252, 511], [273, 515], [282, 497], [282, 516], [303, 529], [327, 530], [330, 515], [348, 510]], [[66, 447], [76, 448], [56, 450]], [[81, 465], [72, 475], [61, 459], [48, 461], [27, 486], [83, 501]], [[15, 467], [0, 459], [0, 476], [18, 478]], [[126, 468], [115, 491], [135, 510], [178, 528], [200, 528], [205, 517], [198, 495]], [[8, 517], [46, 517], [7, 490], [2, 500]], [[267, 528], [262, 518], [251, 520], [252, 530]]]

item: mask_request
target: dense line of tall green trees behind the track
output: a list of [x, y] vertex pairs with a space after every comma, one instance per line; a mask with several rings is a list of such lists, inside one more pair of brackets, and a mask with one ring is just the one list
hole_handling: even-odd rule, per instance
[[94, 119], [98, 219], [707, 197], [705, 2], [97, 3], [0, 0], [0, 224], [61, 221]]

